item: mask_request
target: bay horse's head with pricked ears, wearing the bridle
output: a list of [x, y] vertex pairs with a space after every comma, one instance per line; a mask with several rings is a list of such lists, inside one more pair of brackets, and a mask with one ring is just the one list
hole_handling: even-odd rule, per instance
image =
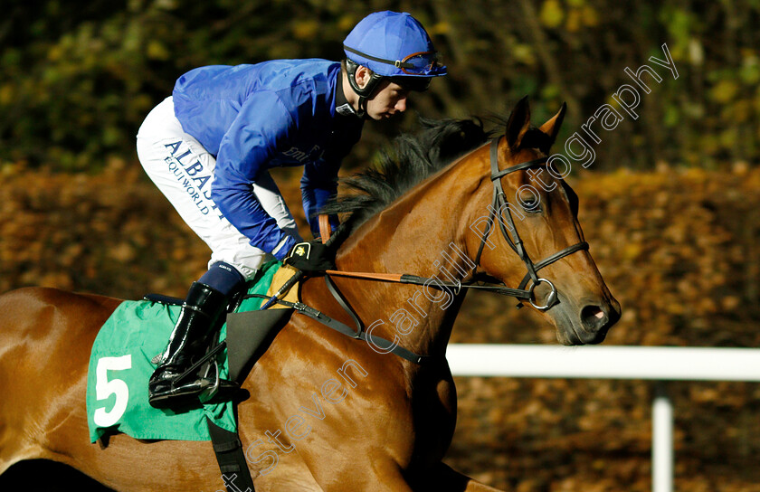
[[[477, 251], [480, 278], [529, 293], [527, 300], [552, 320], [562, 344], [598, 344], [620, 319], [621, 308], [584, 241], [575, 192], [546, 164], [565, 109], [563, 104], [535, 128], [527, 98], [521, 99], [505, 135], [490, 152], [478, 153], [489, 160], [490, 180], [480, 186], [480, 220], [471, 227], [482, 233], [470, 234], [467, 248]], [[491, 204], [482, 215], [485, 196]]]

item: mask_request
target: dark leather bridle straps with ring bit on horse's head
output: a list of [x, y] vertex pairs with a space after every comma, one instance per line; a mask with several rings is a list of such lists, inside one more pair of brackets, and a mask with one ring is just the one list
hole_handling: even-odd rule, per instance
[[[501, 230], [501, 235], [504, 236], [504, 239], [507, 241], [510, 248], [512, 248], [513, 251], [515, 251], [518, 254], [518, 257], [520, 260], [523, 260], [523, 263], [525, 263], [525, 266], [527, 268], [527, 273], [525, 277], [523, 277], [522, 281], [520, 282], [518, 289], [508, 289], [505, 285], [505, 288], [500, 288], [500, 290], [495, 290], [499, 294], [504, 294], [508, 296], [513, 296], [518, 299], [527, 299], [530, 301], [530, 304], [533, 307], [536, 307], [539, 311], [546, 311], [550, 307], [555, 306], [559, 302], [559, 298], [557, 298], [557, 291], [556, 286], [554, 283], [551, 282], [551, 280], [544, 279], [541, 277], [538, 277], [537, 272], [538, 270], [543, 269], [544, 267], [551, 265], [556, 260], [560, 260], [562, 258], [565, 258], [565, 256], [575, 253], [575, 251], [583, 251], [588, 250], [588, 242], [581, 241], [578, 242], [572, 246], [568, 246], [564, 250], [557, 251], [556, 253], [546, 257], [544, 260], [540, 260], [537, 263], [534, 263], [533, 260], [530, 260], [530, 256], [528, 256], [527, 251], [525, 251], [525, 246], [523, 245], [522, 240], [520, 239], [520, 235], [518, 232], [518, 229], [515, 227], [515, 221], [512, 219], [512, 212], [510, 209], [510, 203], [507, 200], [507, 195], [504, 194], [504, 189], [501, 187], [501, 178], [514, 173], [516, 171], [522, 171], [524, 169], [529, 169], [534, 166], [538, 166], [540, 164], [544, 164], [548, 160], [548, 157], [540, 157], [531, 161], [523, 162], [520, 164], [516, 164], [515, 166], [508, 167], [504, 170], [499, 170], [499, 137], [492, 138], [490, 143], [490, 170], [491, 175], [490, 179], [493, 183], [493, 200], [491, 201], [491, 207], [490, 207], [490, 213], [489, 213], [489, 219], [487, 222], [487, 227], [485, 231], [483, 232], [483, 236], [480, 239], [480, 247], [478, 248], [478, 254], [475, 257], [475, 268], [473, 269], [473, 277], [476, 276], [475, 270], [477, 270], [478, 266], [480, 266], [480, 256], [483, 253], [483, 248], [486, 245], [486, 242], [488, 241], [489, 232], [491, 232], [491, 229], [493, 228], [493, 222], [496, 221], [496, 214], [499, 213], [500, 217], [503, 217], [505, 220], [499, 220], [499, 229]], [[502, 210], [506, 209], [506, 214], [502, 213]], [[512, 235], [509, 234], [509, 232], [512, 232]], [[512, 239], [512, 236], [514, 236], [514, 240]], [[482, 276], [481, 276], [482, 277]], [[490, 276], [489, 279], [492, 279]], [[530, 285], [530, 289], [525, 289], [528, 282], [532, 282]], [[546, 297], [546, 303], [543, 306], [537, 305], [536, 303], [536, 296], [535, 296], [535, 289], [536, 287], [541, 284], [542, 282], [545, 282], [548, 284], [548, 286], [552, 289], [549, 295]], [[464, 287], [464, 286], [463, 286]], [[518, 304], [518, 307], [521, 307], [522, 303]]]

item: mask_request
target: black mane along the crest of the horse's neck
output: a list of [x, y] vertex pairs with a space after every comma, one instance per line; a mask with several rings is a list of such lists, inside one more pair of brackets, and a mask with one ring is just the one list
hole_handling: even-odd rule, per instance
[[[499, 126], [506, 120], [495, 119]], [[420, 118], [421, 130], [402, 134], [381, 151], [377, 166], [341, 179], [349, 190], [328, 202], [320, 213], [348, 213], [340, 235], [350, 234], [370, 217], [385, 209], [423, 179], [448, 166], [457, 158], [486, 143], [495, 134], [485, 130], [480, 118]], [[530, 128], [521, 147], [541, 148], [548, 139]]]

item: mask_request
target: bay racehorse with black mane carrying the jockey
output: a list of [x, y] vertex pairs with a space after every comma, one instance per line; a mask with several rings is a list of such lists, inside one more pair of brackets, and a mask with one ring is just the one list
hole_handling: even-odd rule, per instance
[[[445, 351], [464, 298], [464, 289], [444, 277], [457, 287], [474, 278], [524, 285], [526, 270], [534, 270], [529, 300], [565, 345], [603, 341], [620, 317], [584, 247], [575, 194], [546, 169], [564, 114], [565, 105], [540, 128], [531, 127], [522, 99], [496, 144], [489, 147], [483, 133], [479, 147], [437, 166], [433, 161], [471, 134], [467, 125], [449, 121], [434, 145], [418, 143], [406, 162], [354, 180], [368, 194], [334, 205], [354, 212], [337, 270], [411, 272], [441, 285], [338, 276], [335, 285], [371, 328], [367, 342], [383, 337], [428, 360], [415, 364], [308, 317], [291, 317], [253, 366], [243, 384], [250, 398], [238, 406], [256, 490], [496, 490], [442, 463], [456, 421]], [[540, 170], [544, 185], [537, 186], [531, 178]], [[536, 185], [535, 196], [519, 196], [525, 185]], [[300, 296], [351, 323], [323, 279], [303, 281]], [[119, 491], [223, 490], [209, 442], [117, 434], [104, 449], [90, 444], [90, 347], [120, 302], [44, 288], [0, 297], [0, 472], [20, 460], [51, 459]]]

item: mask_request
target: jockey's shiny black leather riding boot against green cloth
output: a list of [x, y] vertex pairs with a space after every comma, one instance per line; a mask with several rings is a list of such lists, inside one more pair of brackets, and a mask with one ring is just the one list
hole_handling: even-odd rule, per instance
[[[227, 296], [201, 282], [194, 282], [190, 287], [169, 345], [147, 383], [148, 402], [152, 407], [169, 408], [198, 402], [198, 396], [209, 387], [210, 382], [196, 374], [188, 374], [180, 381], [177, 377], [205, 353], [206, 337], [227, 303]], [[234, 384], [223, 383], [226, 389]]]

